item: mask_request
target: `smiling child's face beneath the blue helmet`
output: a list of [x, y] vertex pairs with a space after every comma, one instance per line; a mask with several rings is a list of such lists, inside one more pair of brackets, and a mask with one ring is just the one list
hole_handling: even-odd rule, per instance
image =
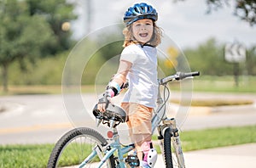
[[153, 35], [153, 21], [144, 19], [137, 20], [132, 24], [132, 33], [138, 42], [146, 43]]

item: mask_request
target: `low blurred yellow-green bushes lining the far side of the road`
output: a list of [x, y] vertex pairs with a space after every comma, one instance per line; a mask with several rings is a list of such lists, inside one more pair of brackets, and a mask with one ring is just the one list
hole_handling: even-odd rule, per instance
[[[82, 84], [94, 84], [96, 75], [106, 60], [119, 56], [122, 47], [121, 42], [113, 42], [100, 48], [92, 56], [84, 68]], [[111, 49], [109, 49], [111, 48]], [[233, 64], [224, 60], [224, 44], [211, 38], [201, 43], [197, 48], [185, 48], [184, 54], [189, 61], [191, 70], [199, 70], [203, 76], [232, 76]], [[70, 51], [56, 54], [55, 57], [37, 59], [35, 64], [27, 65], [26, 72], [20, 71], [20, 65], [16, 61], [10, 66], [9, 83], [11, 85], [60, 85], [62, 70]], [[240, 75], [256, 75], [256, 50], [255, 47], [247, 49], [247, 61], [240, 64]], [[108, 82], [114, 71], [118, 68], [115, 61], [109, 61], [104, 65], [104, 82]], [[175, 69], [160, 64], [161, 69], [175, 73]]]

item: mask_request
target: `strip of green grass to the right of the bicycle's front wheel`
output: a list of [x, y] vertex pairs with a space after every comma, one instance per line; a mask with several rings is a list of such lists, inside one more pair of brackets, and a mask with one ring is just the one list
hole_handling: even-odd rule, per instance
[[[183, 151], [256, 143], [256, 126], [223, 127], [180, 132]], [[157, 137], [153, 137], [157, 140]], [[159, 151], [160, 152], [160, 151]]]

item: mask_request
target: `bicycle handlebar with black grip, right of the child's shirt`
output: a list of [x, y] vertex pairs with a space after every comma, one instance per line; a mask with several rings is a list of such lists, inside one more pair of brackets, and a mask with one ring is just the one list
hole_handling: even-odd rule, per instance
[[200, 76], [200, 72], [199, 71], [195, 71], [195, 72], [177, 72], [177, 74], [173, 75], [173, 76], [167, 76], [165, 78], [162, 78], [159, 80], [159, 84], [160, 85], [164, 85], [166, 84], [168, 81], [180, 81], [183, 80], [185, 78], [188, 77], [193, 77], [193, 76]]

